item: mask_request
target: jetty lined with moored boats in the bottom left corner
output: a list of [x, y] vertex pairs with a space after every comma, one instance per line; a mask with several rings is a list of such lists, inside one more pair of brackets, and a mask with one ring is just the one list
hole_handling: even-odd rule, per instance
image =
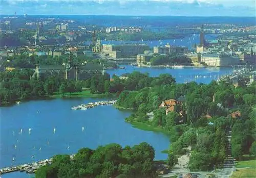
[[[74, 159], [75, 155], [70, 155], [70, 159]], [[35, 171], [41, 167], [45, 166], [47, 164], [52, 163], [52, 158], [51, 159], [46, 159], [46, 160], [41, 160], [38, 162], [33, 162], [29, 164], [23, 164], [23, 165], [18, 165], [18, 166], [12, 166], [12, 167], [6, 167], [6, 168], [1, 168], [0, 169], [0, 175], [10, 173], [10, 172], [27, 172], [27, 173], [35, 173]]]

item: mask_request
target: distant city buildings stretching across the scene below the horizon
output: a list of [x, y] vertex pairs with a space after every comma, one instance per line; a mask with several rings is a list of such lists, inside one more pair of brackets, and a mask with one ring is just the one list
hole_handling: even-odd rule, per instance
[[[179, 65], [228, 67], [234, 65], [254, 65], [256, 63], [256, 26], [235, 24], [202, 24], [201, 26], [176, 26], [168, 29], [175, 40], [189, 37], [186, 45], [163, 44], [161, 40], [170, 39], [162, 36], [157, 45], [148, 45], [144, 41], [152, 39], [152, 32], [141, 26], [100, 27], [94, 24], [82, 24], [75, 19], [28, 18], [28, 15], [2, 17], [1, 20], [1, 70], [9, 57], [19, 55], [65, 56], [70, 52], [75, 56], [89, 59], [101, 59], [106, 63], [130, 63], [139, 66], [152, 66], [152, 58], [176, 54], [185, 57], [190, 63]], [[148, 33], [151, 33], [147, 36]], [[161, 32], [159, 32], [161, 33]], [[12, 35], [18, 34], [18, 39]], [[199, 34], [197, 36], [196, 34]], [[212, 35], [211, 40], [206, 35]], [[139, 40], [118, 40], [116, 36], [127, 39], [138, 36]], [[150, 37], [149, 37], [150, 36]], [[143, 40], [144, 38], [144, 40]], [[191, 38], [191, 39], [190, 39]], [[199, 38], [199, 39], [195, 39]], [[119, 44], [112, 43], [119, 41]], [[89, 42], [89, 43], [86, 43]], [[108, 41], [108, 44], [105, 43]], [[123, 42], [122, 42], [123, 41]], [[129, 43], [129, 41], [131, 41]], [[83, 62], [86, 62], [84, 60]], [[165, 66], [172, 65], [164, 63]], [[15, 66], [12, 66], [15, 67]]]

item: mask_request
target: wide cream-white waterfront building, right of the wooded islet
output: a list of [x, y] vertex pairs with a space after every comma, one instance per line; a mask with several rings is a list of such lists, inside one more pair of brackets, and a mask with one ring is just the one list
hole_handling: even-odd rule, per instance
[[201, 62], [208, 66], [221, 67], [238, 65], [240, 59], [238, 56], [231, 56], [228, 54], [202, 54]]

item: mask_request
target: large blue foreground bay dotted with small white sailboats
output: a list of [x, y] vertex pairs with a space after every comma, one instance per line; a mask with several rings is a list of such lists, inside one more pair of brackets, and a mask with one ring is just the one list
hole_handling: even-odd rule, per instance
[[[143, 141], [155, 148], [155, 159], [167, 158], [161, 151], [168, 148], [168, 137], [133, 128], [124, 121], [131, 112], [119, 111], [113, 106], [99, 106], [86, 111], [71, 110], [72, 106], [98, 100], [104, 99], [37, 100], [0, 108], [0, 167], [47, 159], [56, 154], [73, 154], [81, 147], [94, 149], [109, 143], [133, 146]], [[29, 128], [32, 130], [30, 135]], [[20, 129], [23, 129], [22, 134], [19, 133]], [[34, 155], [33, 159], [32, 155]], [[25, 178], [29, 175], [17, 172], [5, 174], [3, 177]]]

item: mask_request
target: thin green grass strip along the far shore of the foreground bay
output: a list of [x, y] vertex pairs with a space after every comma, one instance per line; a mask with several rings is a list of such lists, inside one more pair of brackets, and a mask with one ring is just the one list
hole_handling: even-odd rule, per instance
[[61, 93], [54, 92], [50, 97], [102, 97], [104, 94], [92, 94], [90, 90], [83, 90], [82, 92], [74, 92], [74, 93]]

